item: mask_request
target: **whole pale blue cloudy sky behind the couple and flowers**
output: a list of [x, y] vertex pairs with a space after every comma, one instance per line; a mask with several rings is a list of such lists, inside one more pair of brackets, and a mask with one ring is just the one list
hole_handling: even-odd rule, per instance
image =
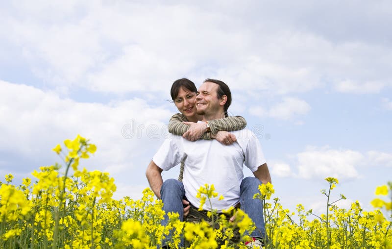
[[14, 184], [80, 134], [98, 150], [79, 167], [140, 198], [182, 77], [229, 85], [285, 208], [325, 212], [331, 176], [341, 207], [372, 210], [392, 180], [391, 1], [20, 0], [0, 16], [0, 176]]

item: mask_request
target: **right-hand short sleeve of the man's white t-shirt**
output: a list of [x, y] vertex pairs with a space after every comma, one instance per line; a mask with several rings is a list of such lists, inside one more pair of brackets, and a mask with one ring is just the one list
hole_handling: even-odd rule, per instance
[[266, 163], [263, 149], [256, 135], [251, 132], [245, 149], [245, 166], [255, 172], [260, 165]]

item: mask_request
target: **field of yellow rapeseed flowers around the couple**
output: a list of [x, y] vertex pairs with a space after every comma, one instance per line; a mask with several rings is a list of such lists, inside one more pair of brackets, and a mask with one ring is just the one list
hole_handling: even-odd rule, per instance
[[[235, 216], [233, 222], [209, 212], [212, 222], [200, 224], [180, 222], [178, 214], [169, 213], [170, 223], [163, 227], [162, 202], [150, 189], [143, 191], [142, 199], [112, 199], [116, 185], [108, 173], [79, 170], [79, 160], [89, 158], [96, 149], [89, 140], [77, 136], [53, 149], [63, 166], [41, 167], [20, 186], [11, 184], [12, 174], [5, 176], [5, 182], [0, 182], [0, 248], [155, 249], [169, 233], [173, 248], [181, 238], [188, 248], [248, 248], [246, 231], [252, 229], [252, 222], [241, 210], [225, 210]], [[339, 208], [336, 202], [345, 197], [330, 199], [338, 180], [325, 180], [327, 188], [321, 190], [326, 198], [325, 214], [319, 216], [301, 204], [294, 212], [285, 209], [278, 198], [271, 199], [271, 184], [259, 187], [254, 198], [265, 207], [260, 210], [268, 236], [265, 248], [392, 249], [392, 183], [376, 189], [375, 210], [365, 211], [358, 201], [349, 209]], [[206, 185], [197, 196], [208, 203], [218, 193], [213, 185]], [[232, 240], [236, 231], [240, 242]]]

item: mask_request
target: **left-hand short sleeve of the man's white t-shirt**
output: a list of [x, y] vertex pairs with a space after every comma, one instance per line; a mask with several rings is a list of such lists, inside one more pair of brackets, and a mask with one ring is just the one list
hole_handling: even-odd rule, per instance
[[181, 162], [181, 153], [172, 137], [163, 142], [161, 147], [152, 157], [152, 161], [164, 171], [168, 171]]

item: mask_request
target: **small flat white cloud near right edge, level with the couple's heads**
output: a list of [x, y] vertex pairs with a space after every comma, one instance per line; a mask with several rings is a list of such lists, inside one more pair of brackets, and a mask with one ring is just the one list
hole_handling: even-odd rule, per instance
[[355, 94], [377, 94], [385, 87], [385, 83], [381, 82], [354, 82], [351, 80], [343, 80], [335, 84], [335, 90], [342, 93]]

